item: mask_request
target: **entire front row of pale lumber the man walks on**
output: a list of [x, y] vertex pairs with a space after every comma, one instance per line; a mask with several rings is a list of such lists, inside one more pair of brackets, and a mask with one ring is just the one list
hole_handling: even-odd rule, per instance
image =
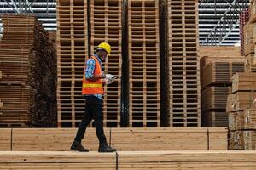
[[[0, 169], [212, 169], [256, 167], [253, 151], [118, 151], [117, 154], [60, 151], [1, 151]], [[22, 159], [20, 159], [22, 157]], [[170, 161], [171, 160], [171, 161]]]

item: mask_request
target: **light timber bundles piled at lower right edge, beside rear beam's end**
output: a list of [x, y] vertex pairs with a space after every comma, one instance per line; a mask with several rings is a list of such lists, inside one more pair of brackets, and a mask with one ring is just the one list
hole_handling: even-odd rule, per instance
[[227, 103], [230, 150], [255, 150], [256, 73], [237, 73], [232, 79]]

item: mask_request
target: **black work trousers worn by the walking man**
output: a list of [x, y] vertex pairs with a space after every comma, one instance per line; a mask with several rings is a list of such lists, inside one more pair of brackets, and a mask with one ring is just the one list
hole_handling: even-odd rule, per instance
[[84, 99], [84, 117], [82, 122], [79, 124], [79, 129], [75, 140], [81, 143], [81, 140], [84, 139], [86, 127], [89, 125], [91, 120], [94, 119], [96, 134], [100, 144], [107, 144], [107, 139], [103, 130], [102, 99], [98, 99], [95, 96], [84, 96]]

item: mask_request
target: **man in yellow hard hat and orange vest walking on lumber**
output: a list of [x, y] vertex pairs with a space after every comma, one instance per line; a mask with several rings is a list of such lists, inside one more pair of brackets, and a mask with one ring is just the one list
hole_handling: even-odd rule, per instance
[[108, 43], [102, 42], [96, 48], [96, 54], [86, 59], [84, 66], [83, 88], [82, 94], [85, 99], [85, 110], [82, 122], [79, 124], [79, 129], [71, 150], [88, 152], [81, 144], [84, 139], [86, 127], [92, 119], [95, 121], [96, 135], [99, 139], [99, 152], [114, 152], [116, 149], [111, 148], [103, 131], [103, 112], [102, 112], [102, 95], [103, 84], [113, 82], [113, 75], [104, 74], [102, 71], [102, 61], [107, 58], [111, 52], [111, 47]]

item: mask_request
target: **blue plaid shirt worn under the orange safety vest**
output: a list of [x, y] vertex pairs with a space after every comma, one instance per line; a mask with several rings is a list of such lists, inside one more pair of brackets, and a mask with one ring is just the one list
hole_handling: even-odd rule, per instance
[[[99, 59], [99, 57], [96, 54], [94, 54], [94, 56], [96, 57], [96, 59], [98, 59], [100, 65], [102, 67], [101, 59]], [[96, 65], [96, 62], [94, 59], [90, 58], [87, 60], [86, 69], [85, 69], [85, 78], [93, 77], [95, 65]], [[103, 73], [103, 71], [102, 71], [102, 73]], [[89, 95], [94, 95], [96, 98], [102, 99], [102, 94], [87, 94], [87, 96], [89, 96]]]

